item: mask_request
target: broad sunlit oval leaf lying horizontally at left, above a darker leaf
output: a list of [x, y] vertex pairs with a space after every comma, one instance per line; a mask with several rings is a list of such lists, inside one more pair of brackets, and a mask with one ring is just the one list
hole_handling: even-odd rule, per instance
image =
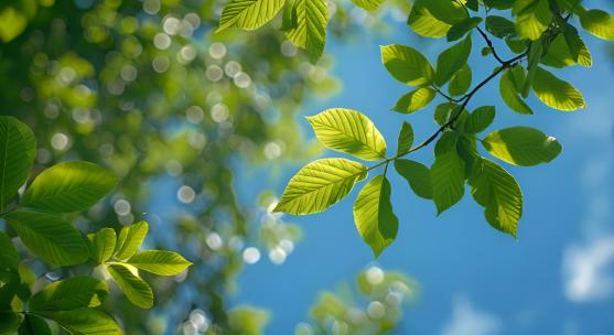
[[64, 162], [36, 176], [23, 194], [23, 206], [56, 213], [82, 212], [105, 197], [117, 176], [89, 162]]

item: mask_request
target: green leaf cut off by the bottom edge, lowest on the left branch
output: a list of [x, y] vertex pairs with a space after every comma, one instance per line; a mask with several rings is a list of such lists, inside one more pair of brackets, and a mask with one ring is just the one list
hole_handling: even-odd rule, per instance
[[57, 322], [62, 328], [73, 335], [123, 334], [111, 316], [95, 309], [50, 312], [43, 316]]

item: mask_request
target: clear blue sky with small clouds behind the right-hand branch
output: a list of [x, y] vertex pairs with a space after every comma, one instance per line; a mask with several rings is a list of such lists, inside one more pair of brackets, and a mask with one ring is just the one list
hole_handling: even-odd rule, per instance
[[[604, 1], [584, 2], [604, 6]], [[613, 4], [607, 6], [614, 12]], [[468, 194], [435, 217], [432, 202], [412, 195], [407, 183], [389, 171], [399, 234], [376, 264], [403, 271], [421, 285], [421, 296], [406, 310], [398, 334], [614, 333], [614, 66], [605, 54], [605, 43], [590, 35], [584, 40], [593, 52], [594, 66], [557, 74], [584, 94], [588, 109], [561, 112], [531, 97], [536, 115], [520, 116], [505, 107], [496, 82], [468, 106], [497, 107], [488, 131], [529, 126], [563, 144], [563, 152], [550, 164], [518, 168], [502, 163], [525, 194], [518, 240], [491, 228]], [[390, 43], [417, 46], [432, 63], [444, 46], [418, 40], [401, 23], [392, 34], [365, 34], [359, 43], [330, 41], [326, 51], [336, 60], [333, 72], [343, 80], [343, 91], [325, 101], [310, 101], [301, 115], [332, 107], [359, 110], [371, 118], [390, 149], [402, 120], [412, 123], [417, 140], [426, 139], [435, 130], [432, 107], [437, 104], [410, 116], [388, 110], [411, 89], [381, 66], [379, 45]], [[495, 66], [492, 58], [475, 52], [481, 43], [474, 35], [474, 84]], [[298, 122], [313, 138], [306, 121], [298, 117]], [[430, 164], [432, 148], [414, 159]], [[239, 188], [250, 190], [239, 195], [241, 201], [249, 203], [261, 187], [281, 194], [300, 165], [286, 166], [281, 177], [268, 180], [272, 183], [268, 185], [239, 177]], [[265, 259], [246, 266], [239, 275], [239, 290], [231, 301], [269, 309], [272, 320], [267, 333], [291, 334], [297, 323], [309, 318], [309, 306], [319, 292], [352, 282], [358, 271], [374, 264], [352, 217], [358, 190], [322, 214], [284, 217], [304, 230], [293, 253], [281, 266]]]

